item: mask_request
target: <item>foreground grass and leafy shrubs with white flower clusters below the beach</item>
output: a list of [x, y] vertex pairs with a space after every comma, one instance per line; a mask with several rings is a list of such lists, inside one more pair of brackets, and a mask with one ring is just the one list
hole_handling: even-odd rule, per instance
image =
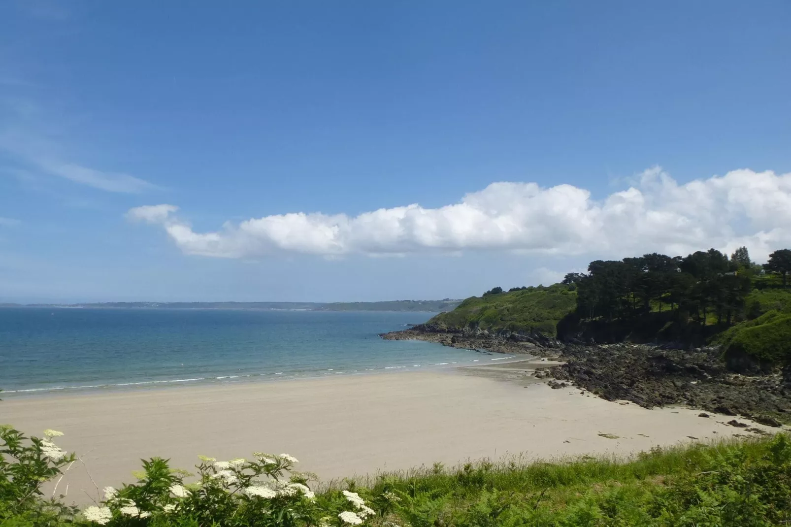
[[102, 502], [78, 510], [41, 490], [72, 459], [51, 442], [59, 433], [47, 433], [28, 439], [0, 429], [2, 527], [763, 527], [791, 520], [785, 434], [655, 448], [631, 461], [435, 464], [339, 480], [322, 491], [308, 487], [312, 476], [293, 472], [297, 461], [286, 454], [202, 457], [195, 476], [154, 458], [143, 462], [138, 481], [105, 487]]

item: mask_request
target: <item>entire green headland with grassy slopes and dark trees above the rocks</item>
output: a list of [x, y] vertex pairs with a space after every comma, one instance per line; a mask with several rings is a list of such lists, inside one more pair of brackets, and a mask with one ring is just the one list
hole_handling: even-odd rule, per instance
[[684, 257], [652, 253], [596, 260], [587, 273], [569, 273], [561, 284], [508, 292], [494, 287], [427, 324], [601, 343], [626, 339], [698, 347], [714, 342], [730, 350], [730, 357], [747, 355], [762, 367], [783, 366], [791, 362], [788, 319], [762, 317], [791, 313], [789, 266], [791, 249], [773, 252], [762, 267], [744, 247], [730, 258], [710, 249]]

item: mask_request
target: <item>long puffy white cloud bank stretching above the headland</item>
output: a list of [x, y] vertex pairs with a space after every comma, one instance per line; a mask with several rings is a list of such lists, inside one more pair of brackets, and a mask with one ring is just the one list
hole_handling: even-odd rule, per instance
[[501, 182], [445, 207], [412, 204], [354, 217], [277, 214], [226, 222], [207, 233], [196, 233], [177, 211], [174, 205], [147, 205], [129, 210], [127, 218], [161, 226], [187, 254], [220, 258], [472, 250], [622, 258], [711, 247], [730, 252], [745, 245], [765, 261], [769, 252], [791, 245], [791, 173], [740, 169], [678, 184], [654, 167], [603, 200], [569, 184]]

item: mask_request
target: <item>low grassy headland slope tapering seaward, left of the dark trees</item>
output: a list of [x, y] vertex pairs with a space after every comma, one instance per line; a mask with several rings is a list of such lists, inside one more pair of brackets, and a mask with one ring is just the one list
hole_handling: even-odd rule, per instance
[[510, 293], [467, 298], [448, 313], [429, 320], [445, 328], [479, 327], [499, 331], [542, 332], [554, 336], [558, 320], [577, 306], [577, 292], [568, 286], [528, 287]]

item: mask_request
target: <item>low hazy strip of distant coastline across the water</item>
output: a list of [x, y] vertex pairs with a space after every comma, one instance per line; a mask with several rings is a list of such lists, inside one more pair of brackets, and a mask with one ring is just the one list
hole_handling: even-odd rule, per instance
[[265, 309], [278, 311], [422, 311], [454, 309], [460, 300], [392, 300], [379, 302], [98, 302], [84, 304], [7, 304], [6, 307], [105, 309]]

